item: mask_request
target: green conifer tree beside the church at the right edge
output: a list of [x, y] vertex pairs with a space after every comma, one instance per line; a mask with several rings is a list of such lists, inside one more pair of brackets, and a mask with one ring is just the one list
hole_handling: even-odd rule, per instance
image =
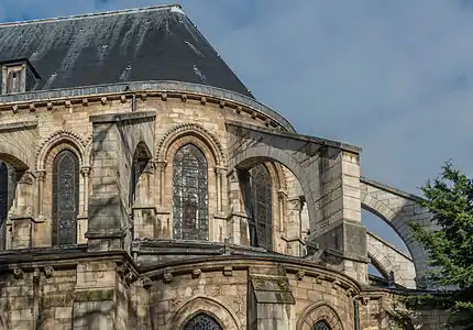
[[473, 328], [473, 180], [451, 162], [441, 175], [421, 188], [420, 204], [437, 228], [413, 221], [414, 238], [429, 252], [429, 280], [455, 288], [444, 299], [452, 302], [450, 326]]

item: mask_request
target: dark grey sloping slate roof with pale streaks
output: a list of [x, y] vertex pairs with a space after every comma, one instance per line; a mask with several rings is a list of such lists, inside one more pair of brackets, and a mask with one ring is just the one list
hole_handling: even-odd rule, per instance
[[0, 24], [0, 62], [18, 58], [36, 90], [178, 80], [253, 97], [177, 6]]

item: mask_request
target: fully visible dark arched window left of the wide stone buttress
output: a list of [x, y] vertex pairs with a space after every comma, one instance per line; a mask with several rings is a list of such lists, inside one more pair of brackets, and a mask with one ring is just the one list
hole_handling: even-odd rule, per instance
[[53, 164], [53, 245], [77, 242], [79, 207], [79, 160], [62, 151]]

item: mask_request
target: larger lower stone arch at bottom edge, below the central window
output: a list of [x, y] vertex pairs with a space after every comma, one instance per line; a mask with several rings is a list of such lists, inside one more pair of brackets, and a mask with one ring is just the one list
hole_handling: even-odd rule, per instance
[[205, 296], [197, 296], [180, 305], [170, 317], [167, 329], [182, 330], [190, 319], [199, 314], [207, 314], [212, 317], [222, 329], [242, 330], [237, 314], [229, 306]]

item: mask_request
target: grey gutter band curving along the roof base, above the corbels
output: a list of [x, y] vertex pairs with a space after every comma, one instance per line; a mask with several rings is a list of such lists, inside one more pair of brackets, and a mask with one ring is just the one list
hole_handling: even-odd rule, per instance
[[86, 97], [90, 95], [107, 95], [107, 94], [120, 94], [128, 92], [132, 90], [133, 92], [139, 91], [163, 91], [163, 92], [188, 92], [205, 95], [208, 97], [216, 97], [228, 101], [233, 101], [237, 103], [244, 105], [252, 108], [263, 114], [268, 116], [278, 124], [284, 127], [287, 131], [296, 133], [294, 127], [287, 121], [283, 116], [277, 113], [275, 110], [256, 101], [250, 97], [241, 95], [235, 91], [230, 91], [227, 89], [205, 86], [199, 84], [183, 82], [183, 81], [128, 81], [119, 84], [109, 85], [96, 85], [87, 87], [75, 87], [75, 88], [64, 88], [64, 89], [51, 89], [51, 90], [37, 90], [29, 91], [22, 94], [11, 94], [0, 96], [0, 106], [6, 106], [9, 103], [18, 102], [38, 102], [38, 101], [50, 101], [61, 98], [70, 97]]

